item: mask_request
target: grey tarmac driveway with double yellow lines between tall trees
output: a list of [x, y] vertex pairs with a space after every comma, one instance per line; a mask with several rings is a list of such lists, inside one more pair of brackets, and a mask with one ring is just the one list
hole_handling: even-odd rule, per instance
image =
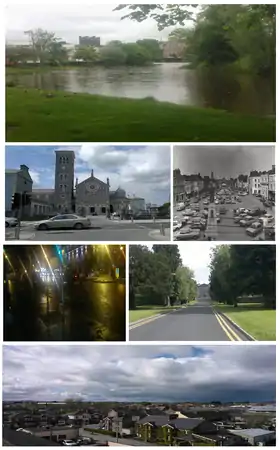
[[147, 323], [132, 324], [130, 341], [239, 341], [243, 333], [216, 314], [210, 301], [197, 301]]

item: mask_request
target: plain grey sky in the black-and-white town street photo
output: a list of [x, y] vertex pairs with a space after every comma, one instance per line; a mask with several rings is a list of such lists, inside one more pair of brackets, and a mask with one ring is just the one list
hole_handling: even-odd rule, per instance
[[237, 177], [251, 170], [269, 170], [275, 164], [275, 148], [266, 146], [174, 146], [174, 169], [182, 174]]

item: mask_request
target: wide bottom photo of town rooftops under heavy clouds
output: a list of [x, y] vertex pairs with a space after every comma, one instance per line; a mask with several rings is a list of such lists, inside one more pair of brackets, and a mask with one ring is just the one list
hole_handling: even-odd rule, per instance
[[5, 345], [3, 425], [4, 446], [275, 446], [275, 346]]

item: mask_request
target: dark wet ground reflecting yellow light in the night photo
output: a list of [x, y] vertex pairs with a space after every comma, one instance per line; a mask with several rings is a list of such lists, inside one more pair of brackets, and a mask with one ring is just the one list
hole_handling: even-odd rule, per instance
[[[13, 282], [5, 299], [5, 340], [7, 341], [124, 341], [125, 283], [96, 282], [91, 279], [49, 286], [30, 292], [29, 285]], [[70, 292], [71, 289], [71, 292]]]

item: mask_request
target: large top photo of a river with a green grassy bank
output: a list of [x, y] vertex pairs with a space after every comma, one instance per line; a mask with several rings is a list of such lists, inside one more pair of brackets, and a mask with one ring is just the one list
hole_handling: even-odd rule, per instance
[[5, 12], [7, 142], [275, 142], [276, 5]]

